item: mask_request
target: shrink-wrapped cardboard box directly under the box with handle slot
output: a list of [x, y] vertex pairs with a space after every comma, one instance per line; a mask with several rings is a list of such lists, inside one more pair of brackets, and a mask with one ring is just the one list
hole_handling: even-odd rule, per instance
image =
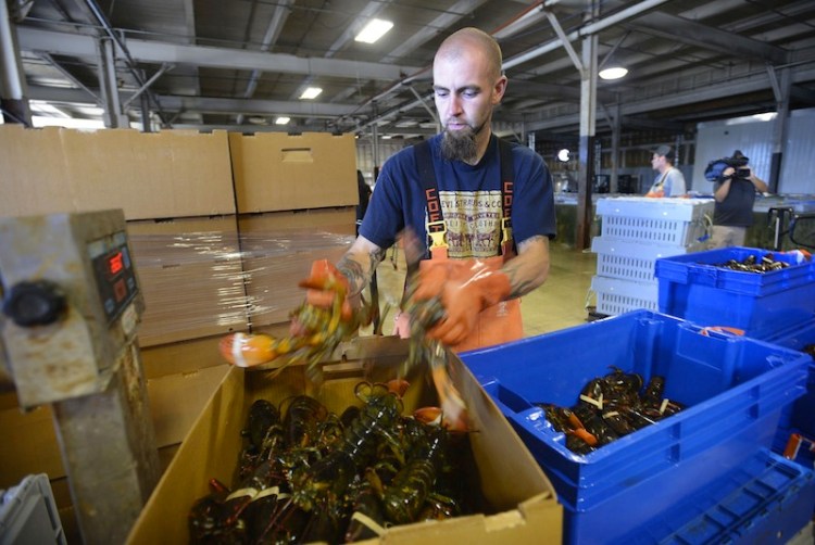
[[315, 259], [337, 263], [354, 239], [353, 206], [241, 215], [238, 219], [252, 327], [289, 320]]

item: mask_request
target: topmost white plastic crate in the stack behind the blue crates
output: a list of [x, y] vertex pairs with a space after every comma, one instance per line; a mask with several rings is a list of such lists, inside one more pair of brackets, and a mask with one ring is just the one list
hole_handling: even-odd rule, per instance
[[705, 240], [713, 199], [614, 197], [597, 202], [601, 235], [610, 239], [687, 246]]

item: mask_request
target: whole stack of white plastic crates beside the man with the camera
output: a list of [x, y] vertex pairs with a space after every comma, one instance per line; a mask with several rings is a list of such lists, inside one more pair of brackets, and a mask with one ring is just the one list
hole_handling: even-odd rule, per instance
[[601, 236], [591, 241], [591, 251], [598, 254], [591, 279], [597, 314], [659, 310], [656, 259], [705, 250], [713, 206], [713, 199], [598, 200]]

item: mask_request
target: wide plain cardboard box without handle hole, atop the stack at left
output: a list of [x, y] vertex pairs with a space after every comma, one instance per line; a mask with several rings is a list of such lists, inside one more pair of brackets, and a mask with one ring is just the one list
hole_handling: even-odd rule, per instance
[[126, 219], [234, 214], [225, 131], [0, 126], [0, 215], [123, 208]]

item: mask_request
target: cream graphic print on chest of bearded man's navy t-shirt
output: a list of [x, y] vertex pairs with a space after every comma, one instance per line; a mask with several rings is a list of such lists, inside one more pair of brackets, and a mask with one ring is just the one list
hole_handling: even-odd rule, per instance
[[501, 191], [439, 191], [452, 258], [498, 255]]

